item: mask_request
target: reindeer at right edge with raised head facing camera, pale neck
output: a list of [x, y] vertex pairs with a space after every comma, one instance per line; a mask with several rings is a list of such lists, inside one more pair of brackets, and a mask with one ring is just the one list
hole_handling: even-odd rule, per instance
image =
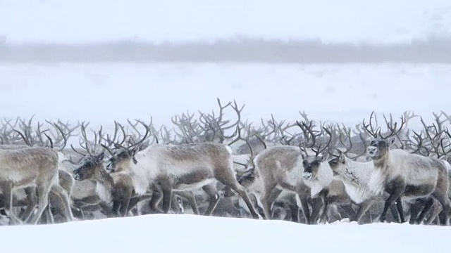
[[412, 154], [402, 149], [390, 149], [390, 145], [396, 141], [393, 136], [399, 133], [404, 123], [404, 117], [401, 117], [399, 129], [396, 123], [394, 126], [388, 125], [390, 129], [388, 136], [382, 136], [380, 130], [378, 133], [373, 131], [371, 121], [365, 126], [366, 131], [374, 136], [367, 148], [367, 156], [374, 166], [369, 188], [379, 195], [384, 191], [389, 194], [379, 220], [385, 221], [388, 208], [396, 203], [400, 220], [404, 222], [402, 197], [407, 199], [433, 197], [443, 207], [444, 219], [440, 223], [447, 224], [450, 200], [447, 197], [449, 180], [446, 164], [433, 157]]

